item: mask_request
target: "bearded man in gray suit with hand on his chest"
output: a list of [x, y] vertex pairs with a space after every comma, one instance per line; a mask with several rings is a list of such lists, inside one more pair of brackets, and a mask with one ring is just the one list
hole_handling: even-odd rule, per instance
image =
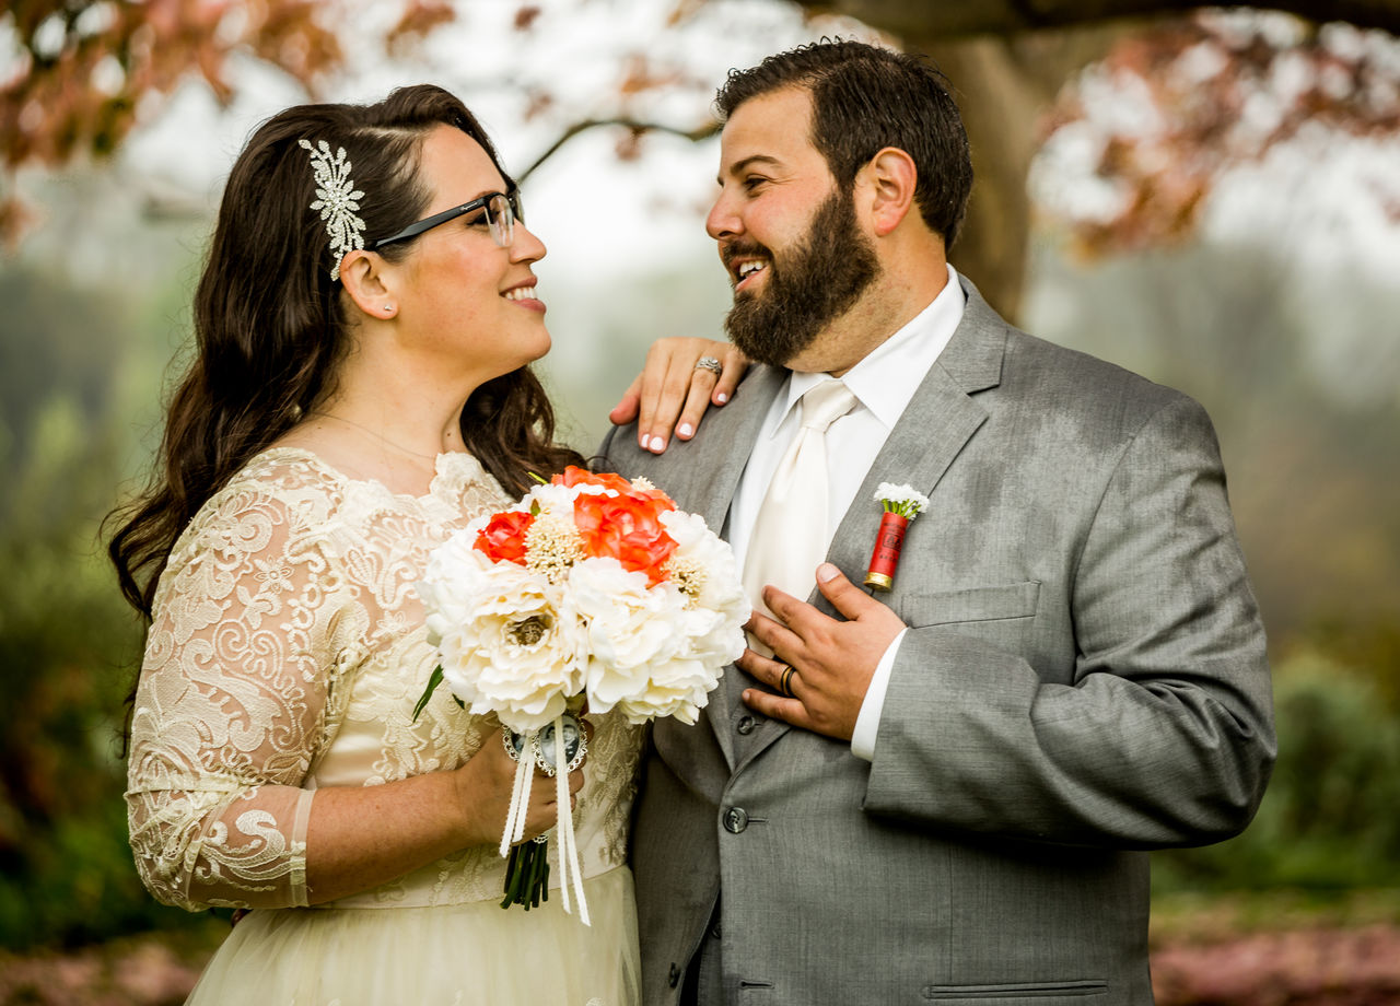
[[[805, 46], [718, 106], [707, 229], [763, 365], [693, 441], [605, 445], [762, 586], [648, 749], [645, 1002], [1149, 1003], [1145, 851], [1240, 831], [1275, 750], [1210, 420], [946, 264], [972, 169], [918, 59]], [[881, 483], [930, 502], [869, 595]]]

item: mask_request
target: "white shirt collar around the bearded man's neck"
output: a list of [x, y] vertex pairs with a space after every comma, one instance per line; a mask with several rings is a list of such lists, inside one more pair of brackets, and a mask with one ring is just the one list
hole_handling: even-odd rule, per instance
[[[953, 337], [966, 304], [967, 295], [958, 281], [958, 273], [948, 266], [948, 283], [938, 297], [841, 376], [851, 395], [886, 430], [893, 430], [928, 368]], [[794, 371], [788, 378], [781, 416], [791, 414], [798, 399], [826, 379], [826, 374]], [[783, 396], [778, 400], [783, 402]]]

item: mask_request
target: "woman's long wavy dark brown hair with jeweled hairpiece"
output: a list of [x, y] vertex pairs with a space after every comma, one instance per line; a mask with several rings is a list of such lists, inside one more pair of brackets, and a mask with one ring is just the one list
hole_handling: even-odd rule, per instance
[[[330, 278], [326, 227], [300, 140], [344, 148], [360, 196], [365, 243], [419, 220], [431, 193], [419, 180], [423, 140], [434, 126], [461, 129], [496, 148], [454, 95], [406, 87], [375, 105], [298, 105], [269, 119], [244, 148], [224, 189], [209, 259], [195, 294], [197, 353], [171, 399], [151, 481], [112, 518], [108, 553], [122, 593], [147, 618], [155, 583], [181, 532], [259, 451], [332, 390], [347, 346], [340, 284]], [[378, 253], [400, 259], [412, 241]], [[553, 442], [554, 413], [522, 368], [468, 399], [462, 439], [508, 493], [529, 473], [581, 465]]]

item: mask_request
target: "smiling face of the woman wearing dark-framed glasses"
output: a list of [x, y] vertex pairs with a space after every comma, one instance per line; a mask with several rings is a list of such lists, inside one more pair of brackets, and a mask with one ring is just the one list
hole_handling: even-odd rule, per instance
[[[433, 193], [423, 217], [505, 192], [505, 179], [476, 140], [437, 126], [423, 141], [419, 180]], [[545, 245], [517, 220], [501, 248], [486, 211], [475, 210], [421, 234], [395, 267], [398, 318], [409, 348], [466, 369], [477, 383], [510, 374], [549, 351], [545, 302], [531, 267]], [[437, 361], [435, 361], [437, 362]]]

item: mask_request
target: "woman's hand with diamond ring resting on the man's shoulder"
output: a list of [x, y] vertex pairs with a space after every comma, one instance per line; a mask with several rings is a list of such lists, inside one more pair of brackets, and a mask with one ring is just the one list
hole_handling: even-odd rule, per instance
[[[707, 361], [701, 367], [700, 362]], [[718, 374], [715, 374], [715, 361]], [[647, 350], [647, 362], [622, 400], [608, 414], [616, 425], [637, 421], [637, 442], [661, 453], [678, 439], [687, 441], [700, 428], [710, 406], [722, 406], [749, 369], [749, 360], [729, 343], [713, 339], [658, 339]]]

